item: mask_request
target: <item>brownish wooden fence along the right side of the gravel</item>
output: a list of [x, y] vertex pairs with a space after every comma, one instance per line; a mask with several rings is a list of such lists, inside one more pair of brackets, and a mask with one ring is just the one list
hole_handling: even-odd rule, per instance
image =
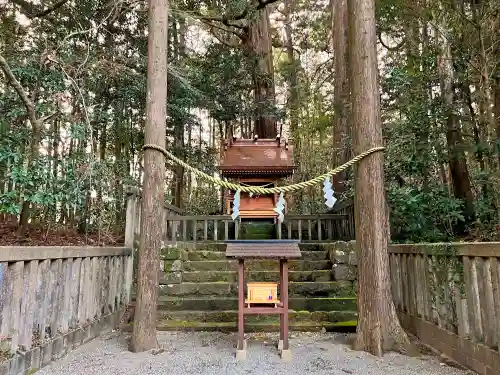
[[389, 259], [405, 328], [479, 374], [498, 374], [500, 243], [391, 245]]

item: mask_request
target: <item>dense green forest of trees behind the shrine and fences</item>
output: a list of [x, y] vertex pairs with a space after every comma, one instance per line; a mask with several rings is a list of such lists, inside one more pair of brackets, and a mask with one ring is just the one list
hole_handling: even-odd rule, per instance
[[[294, 182], [354, 156], [336, 3], [170, 2], [168, 150], [215, 174], [229, 134], [281, 133]], [[376, 11], [392, 240], [498, 240], [500, 1]], [[143, 176], [146, 2], [4, 0], [0, 17], [2, 231], [122, 232], [126, 186]], [[166, 202], [220, 212], [216, 186], [166, 166]], [[338, 198], [352, 198], [352, 176], [335, 178]], [[326, 212], [321, 188], [294, 193], [290, 212]]]

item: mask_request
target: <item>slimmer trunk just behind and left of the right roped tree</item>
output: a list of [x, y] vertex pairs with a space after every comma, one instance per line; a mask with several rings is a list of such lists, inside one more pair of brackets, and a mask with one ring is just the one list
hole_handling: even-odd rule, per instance
[[[350, 155], [349, 135], [349, 80], [347, 68], [347, 0], [332, 0], [332, 34], [334, 58], [333, 89], [333, 165], [347, 162]], [[341, 193], [345, 189], [346, 172], [333, 176], [333, 188]]]

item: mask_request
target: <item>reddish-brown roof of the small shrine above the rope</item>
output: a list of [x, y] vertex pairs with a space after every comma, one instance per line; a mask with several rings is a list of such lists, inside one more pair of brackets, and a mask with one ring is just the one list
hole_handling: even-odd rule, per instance
[[222, 175], [291, 175], [293, 147], [276, 139], [235, 139], [221, 148]]

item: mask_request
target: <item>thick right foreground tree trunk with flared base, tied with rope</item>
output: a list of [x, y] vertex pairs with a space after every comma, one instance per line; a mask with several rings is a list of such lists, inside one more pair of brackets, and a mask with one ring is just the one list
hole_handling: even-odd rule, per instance
[[[351, 0], [348, 12], [353, 144], [358, 154], [383, 144], [375, 1]], [[359, 277], [354, 348], [376, 356], [390, 349], [406, 351], [409, 340], [401, 328], [391, 295], [383, 154], [378, 152], [363, 159], [357, 165], [355, 181]]]

